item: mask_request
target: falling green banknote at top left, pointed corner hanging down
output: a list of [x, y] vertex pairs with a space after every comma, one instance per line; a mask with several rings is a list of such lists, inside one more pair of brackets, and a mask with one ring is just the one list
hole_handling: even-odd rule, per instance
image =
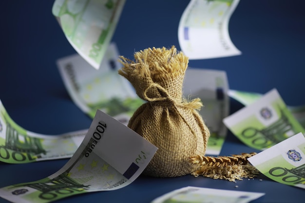
[[125, 0], [55, 0], [52, 13], [77, 53], [99, 69], [124, 4]]

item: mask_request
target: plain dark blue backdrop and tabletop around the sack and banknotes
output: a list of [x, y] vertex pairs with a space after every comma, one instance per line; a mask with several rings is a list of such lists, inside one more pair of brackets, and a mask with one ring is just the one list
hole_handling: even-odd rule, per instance
[[[71, 100], [56, 66], [58, 58], [76, 51], [52, 14], [52, 0], [0, 1], [0, 99], [22, 128], [57, 135], [89, 128], [92, 120]], [[132, 58], [148, 47], [180, 50], [177, 29], [189, 0], [127, 0], [112, 41], [120, 55]], [[305, 1], [241, 0], [229, 21], [229, 34], [242, 55], [190, 60], [189, 66], [224, 70], [229, 88], [266, 93], [276, 88], [287, 105], [305, 104]], [[242, 108], [231, 100], [230, 112]], [[220, 155], [256, 151], [231, 132]], [[68, 159], [13, 165], [0, 163], [0, 187], [36, 181], [55, 173]], [[235, 187], [238, 185], [238, 187]], [[186, 175], [140, 176], [131, 185], [106, 192], [76, 195], [58, 203], [150, 203], [185, 186], [264, 192], [253, 203], [304, 203], [305, 190], [260, 175], [237, 183]], [[8, 201], [0, 198], [0, 203]]]

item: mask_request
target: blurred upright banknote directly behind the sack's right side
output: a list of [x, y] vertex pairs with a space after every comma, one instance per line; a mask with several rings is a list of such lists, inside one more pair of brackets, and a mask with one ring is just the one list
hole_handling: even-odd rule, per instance
[[191, 99], [199, 97], [203, 108], [199, 111], [210, 129], [207, 154], [218, 155], [227, 135], [222, 120], [229, 115], [229, 83], [225, 71], [187, 69], [183, 94]]

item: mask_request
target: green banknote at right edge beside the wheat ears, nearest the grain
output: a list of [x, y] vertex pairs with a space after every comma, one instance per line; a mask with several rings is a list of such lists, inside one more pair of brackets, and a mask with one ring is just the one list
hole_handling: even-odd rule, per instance
[[305, 189], [305, 137], [301, 132], [248, 161], [276, 182]]

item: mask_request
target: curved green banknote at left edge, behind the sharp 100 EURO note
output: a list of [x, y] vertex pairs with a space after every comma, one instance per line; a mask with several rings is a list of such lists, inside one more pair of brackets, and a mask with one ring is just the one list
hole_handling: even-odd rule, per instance
[[87, 129], [62, 135], [43, 135], [17, 125], [0, 101], [0, 162], [29, 162], [70, 158], [82, 142]]

